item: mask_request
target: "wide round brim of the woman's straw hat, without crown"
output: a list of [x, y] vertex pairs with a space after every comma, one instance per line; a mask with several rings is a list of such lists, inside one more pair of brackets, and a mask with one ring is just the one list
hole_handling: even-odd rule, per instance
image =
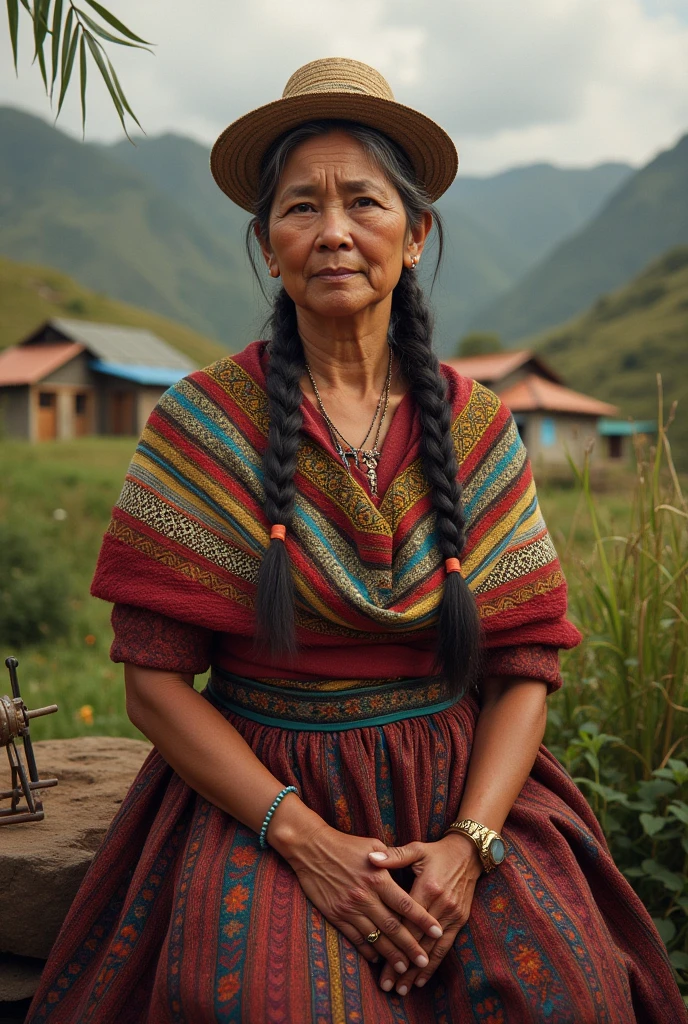
[[255, 213], [261, 160], [270, 144], [305, 121], [335, 118], [377, 128], [407, 154], [431, 202], [454, 181], [459, 156], [443, 128], [412, 106], [351, 92], [275, 99], [245, 114], [222, 132], [210, 155], [213, 177], [229, 199]]

